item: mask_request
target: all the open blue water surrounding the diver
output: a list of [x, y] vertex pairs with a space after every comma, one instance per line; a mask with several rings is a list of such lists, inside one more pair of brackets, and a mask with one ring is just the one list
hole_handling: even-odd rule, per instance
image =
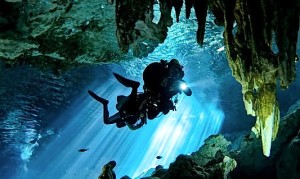
[[[0, 110], [2, 176], [97, 178], [102, 166], [115, 160], [117, 178], [134, 178], [157, 165], [168, 167], [179, 154], [196, 151], [209, 135], [249, 131], [255, 119], [245, 114], [241, 87], [220, 50], [222, 29], [208, 29], [200, 48], [194, 20], [174, 24], [166, 41], [147, 58], [129, 54], [128, 61], [83, 67], [60, 77], [29, 67], [2, 71], [6, 84], [0, 88], [5, 102]], [[142, 84], [149, 63], [172, 58], [184, 65], [184, 79], [193, 90], [190, 97], [179, 96], [177, 111], [148, 121], [137, 131], [103, 123], [102, 106], [88, 89], [109, 99], [114, 114], [116, 97], [130, 89], [112, 72]], [[279, 92], [283, 111], [300, 98], [299, 84], [298, 78], [286, 92]], [[81, 148], [88, 151], [78, 152]]]

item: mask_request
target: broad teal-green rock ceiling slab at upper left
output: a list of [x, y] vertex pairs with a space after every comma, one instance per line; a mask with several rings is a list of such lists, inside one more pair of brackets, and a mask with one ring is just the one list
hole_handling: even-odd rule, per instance
[[106, 0], [0, 2], [0, 58], [10, 66], [60, 71], [116, 61], [115, 30]]

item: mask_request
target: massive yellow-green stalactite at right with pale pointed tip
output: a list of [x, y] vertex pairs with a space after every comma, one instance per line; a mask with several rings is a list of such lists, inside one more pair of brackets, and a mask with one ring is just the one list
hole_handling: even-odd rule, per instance
[[299, 2], [213, 0], [209, 7], [225, 25], [229, 65], [242, 85], [247, 113], [257, 116], [253, 132], [269, 156], [279, 126], [277, 80], [286, 89], [295, 78]]

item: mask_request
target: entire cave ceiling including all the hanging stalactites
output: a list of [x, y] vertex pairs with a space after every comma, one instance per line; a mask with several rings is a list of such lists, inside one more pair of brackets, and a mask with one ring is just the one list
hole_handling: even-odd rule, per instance
[[[153, 22], [153, 6], [160, 18]], [[65, 70], [118, 61], [130, 50], [146, 57], [163, 43], [181, 10], [198, 22], [195, 40], [203, 46], [207, 12], [224, 26], [232, 75], [242, 86], [252, 131], [270, 155], [280, 109], [276, 88], [295, 79], [300, 0], [6, 0], [0, 2], [0, 58], [8, 67], [33, 65]], [[185, 8], [183, 8], [185, 7]], [[172, 17], [172, 9], [175, 17]]]

